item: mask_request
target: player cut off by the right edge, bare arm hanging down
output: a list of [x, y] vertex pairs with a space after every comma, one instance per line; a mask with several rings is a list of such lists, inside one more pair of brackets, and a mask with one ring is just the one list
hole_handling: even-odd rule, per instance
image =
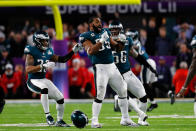
[[[193, 37], [191, 41], [191, 47], [193, 48], [192, 49], [192, 52], [193, 52], [192, 62], [189, 67], [188, 75], [184, 83], [184, 86], [182, 87], [180, 92], [177, 94], [177, 97], [184, 96], [184, 93], [186, 92], [188, 85], [190, 84], [191, 80], [196, 74], [196, 35]], [[195, 89], [195, 93], [196, 93], [196, 89]], [[194, 102], [194, 112], [196, 113], [196, 94], [195, 94], [195, 102]]]

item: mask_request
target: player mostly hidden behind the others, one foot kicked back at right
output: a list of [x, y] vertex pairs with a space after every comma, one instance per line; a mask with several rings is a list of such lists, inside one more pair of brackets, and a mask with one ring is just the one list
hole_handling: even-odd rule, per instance
[[[137, 31], [127, 31], [126, 35], [133, 39], [133, 44], [134, 44], [134, 48], [136, 49], [136, 51], [146, 59], [146, 61], [150, 64], [150, 66], [154, 70], [156, 70], [156, 63], [153, 59], [149, 58], [148, 54], [145, 51], [145, 48], [141, 45], [141, 43], [139, 41], [138, 32]], [[155, 92], [153, 91], [152, 88], [160, 88], [160, 89], [164, 88], [164, 87], [160, 86], [160, 84], [158, 83], [157, 77], [158, 77], [158, 74], [153, 73], [146, 66], [142, 65], [140, 79], [144, 85], [147, 96], [150, 99], [150, 103], [151, 103], [151, 105], [147, 109], [147, 111], [152, 111], [153, 109], [158, 107], [157, 102], [154, 100]], [[167, 92], [167, 91], [165, 91], [165, 92]], [[173, 104], [175, 101], [173, 92], [171, 90], [169, 90], [168, 95], [171, 98], [171, 104]]]

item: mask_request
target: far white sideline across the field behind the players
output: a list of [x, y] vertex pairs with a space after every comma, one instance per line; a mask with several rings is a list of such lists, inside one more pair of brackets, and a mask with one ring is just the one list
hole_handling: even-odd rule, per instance
[[[157, 98], [155, 99], [158, 103], [170, 103], [169, 98]], [[80, 104], [86, 104], [86, 103], [92, 103], [93, 99], [65, 99], [65, 103], [80, 103]], [[180, 98], [176, 99], [176, 103], [193, 103], [193, 98]], [[34, 103], [40, 103], [39, 99], [6, 99], [7, 104], [34, 104]], [[50, 100], [50, 103], [55, 103], [54, 100]], [[113, 99], [105, 99], [103, 103], [114, 103]]]

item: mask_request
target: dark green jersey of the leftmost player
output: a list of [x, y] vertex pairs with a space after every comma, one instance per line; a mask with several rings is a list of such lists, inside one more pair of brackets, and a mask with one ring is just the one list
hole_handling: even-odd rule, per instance
[[[34, 58], [34, 66], [46, 63], [53, 56], [54, 52], [52, 48], [48, 48], [45, 51], [41, 51], [36, 46], [26, 46], [24, 49], [25, 54], [30, 54]], [[43, 79], [45, 78], [46, 70], [42, 69], [36, 73], [28, 73], [28, 79]]]

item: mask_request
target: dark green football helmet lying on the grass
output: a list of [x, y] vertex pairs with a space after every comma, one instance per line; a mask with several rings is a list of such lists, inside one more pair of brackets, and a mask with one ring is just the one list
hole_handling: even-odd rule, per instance
[[82, 111], [75, 110], [71, 114], [72, 123], [77, 128], [84, 128], [88, 124], [88, 117]]

